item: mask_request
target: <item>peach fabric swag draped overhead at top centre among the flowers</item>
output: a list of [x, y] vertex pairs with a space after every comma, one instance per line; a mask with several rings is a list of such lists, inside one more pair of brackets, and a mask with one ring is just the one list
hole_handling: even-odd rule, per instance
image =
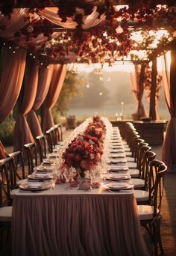
[[[42, 10], [39, 10], [38, 13], [43, 16], [43, 18], [48, 19], [50, 22], [60, 25], [64, 28], [76, 28], [77, 23], [72, 18], [67, 18], [66, 22], [62, 22], [61, 18], [58, 16], [58, 7], [45, 7]], [[96, 12], [96, 7], [92, 11], [92, 13], [88, 16], [84, 16], [84, 24], [83, 28], [91, 28], [95, 25], [98, 25], [102, 20], [105, 19], [105, 14], [102, 14], [100, 18], [98, 18], [99, 13]]]

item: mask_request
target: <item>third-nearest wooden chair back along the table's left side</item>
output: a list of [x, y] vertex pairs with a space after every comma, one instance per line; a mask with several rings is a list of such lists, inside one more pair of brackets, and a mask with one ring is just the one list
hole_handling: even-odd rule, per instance
[[25, 144], [24, 147], [28, 159], [28, 174], [31, 174], [37, 166], [37, 147], [35, 143]]

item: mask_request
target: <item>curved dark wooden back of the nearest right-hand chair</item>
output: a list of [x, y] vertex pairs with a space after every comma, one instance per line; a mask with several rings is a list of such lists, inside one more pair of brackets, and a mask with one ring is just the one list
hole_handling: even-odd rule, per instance
[[149, 204], [154, 206], [154, 217], [160, 214], [166, 170], [164, 162], [157, 159], [150, 162]]

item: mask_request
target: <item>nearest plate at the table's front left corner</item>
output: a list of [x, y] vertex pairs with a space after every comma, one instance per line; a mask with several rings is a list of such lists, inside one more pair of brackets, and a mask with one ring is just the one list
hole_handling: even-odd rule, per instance
[[49, 189], [51, 187], [50, 183], [45, 183], [45, 182], [25, 182], [19, 185], [20, 189], [25, 189], [25, 190], [45, 190]]

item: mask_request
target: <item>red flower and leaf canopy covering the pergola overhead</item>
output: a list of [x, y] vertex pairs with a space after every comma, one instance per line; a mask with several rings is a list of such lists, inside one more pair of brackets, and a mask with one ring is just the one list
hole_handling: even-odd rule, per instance
[[[3, 1], [0, 4], [1, 13], [10, 16], [14, 3], [9, 4]], [[161, 27], [169, 28], [169, 35], [163, 36], [160, 40], [166, 43], [172, 40], [172, 32], [176, 29], [176, 7], [175, 1], [163, 1], [165, 6], [157, 6], [157, 1], [128, 0], [128, 6], [114, 6], [110, 0], [55, 0], [55, 1], [32, 1], [28, 4], [29, 23], [22, 30], [14, 34], [13, 43], [28, 48], [33, 55], [36, 55], [41, 62], [84, 62], [88, 64], [108, 62], [124, 59], [131, 55], [132, 59], [138, 57], [131, 53], [131, 50], [139, 51], [146, 49], [146, 56], [151, 58], [152, 41], [154, 37], [143, 33], [144, 40], [138, 42], [132, 37], [135, 28], [142, 28], [142, 31], [149, 31]], [[160, 1], [162, 3], [162, 1]], [[20, 1], [20, 6], [25, 4]], [[118, 1], [117, 1], [118, 3]], [[62, 28], [53, 25], [51, 22], [38, 16], [38, 7], [58, 7], [58, 16], [62, 22], [72, 18], [76, 22], [75, 30]], [[7, 11], [7, 7], [9, 12]], [[37, 7], [37, 8], [34, 8]], [[92, 13], [96, 8], [98, 17], [103, 13], [105, 19], [93, 28], [83, 29], [84, 16]], [[31, 15], [32, 14], [32, 15]], [[34, 14], [34, 15], [33, 15]], [[160, 49], [159, 49], [160, 50]], [[160, 52], [157, 52], [157, 55]], [[146, 57], [148, 59], [148, 57]]]

